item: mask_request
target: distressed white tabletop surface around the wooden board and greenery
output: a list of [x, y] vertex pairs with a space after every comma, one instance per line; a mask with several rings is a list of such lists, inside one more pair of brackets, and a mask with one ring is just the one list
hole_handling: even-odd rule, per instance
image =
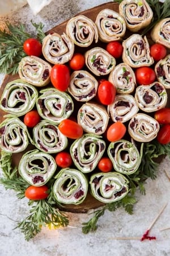
[[[28, 6], [8, 16], [0, 18], [1, 27], [5, 21], [18, 24], [22, 22], [28, 31], [32, 30], [30, 20], [45, 24], [45, 31], [61, 23], [63, 20], [89, 9], [101, 0], [54, 0], [37, 16], [34, 16]], [[3, 75], [0, 76], [2, 81]], [[169, 196], [170, 181], [164, 170], [169, 170], [170, 160], [165, 158], [160, 164], [158, 178], [147, 180], [146, 196], [137, 193], [138, 203], [134, 207], [134, 214], [125, 213], [124, 209], [116, 212], [105, 212], [100, 218], [95, 233], [84, 235], [81, 223], [87, 221], [88, 214], [69, 213], [70, 226], [57, 230], [43, 228], [33, 240], [26, 242], [19, 229], [15, 229], [16, 222], [27, 216], [27, 200], [18, 200], [15, 193], [5, 191], [0, 185], [0, 255], [1, 256], [76, 256], [76, 255], [129, 255], [129, 256], [168, 256], [170, 255], [170, 227]], [[158, 215], [163, 205], [168, 203], [164, 212], [155, 222], [150, 235], [156, 236], [156, 241], [112, 240], [112, 237], [141, 237]], [[74, 226], [75, 228], [71, 228]]]

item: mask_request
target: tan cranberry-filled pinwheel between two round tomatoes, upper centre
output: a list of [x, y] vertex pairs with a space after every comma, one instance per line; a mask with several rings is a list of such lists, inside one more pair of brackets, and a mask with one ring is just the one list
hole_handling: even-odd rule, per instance
[[116, 65], [116, 60], [105, 49], [95, 47], [85, 53], [86, 65], [96, 76], [108, 75]]

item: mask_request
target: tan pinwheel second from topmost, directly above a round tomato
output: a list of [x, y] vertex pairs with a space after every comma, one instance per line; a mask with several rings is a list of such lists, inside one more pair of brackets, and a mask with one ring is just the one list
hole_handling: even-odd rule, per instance
[[99, 39], [105, 43], [121, 40], [126, 32], [124, 18], [116, 11], [104, 9], [96, 17]]

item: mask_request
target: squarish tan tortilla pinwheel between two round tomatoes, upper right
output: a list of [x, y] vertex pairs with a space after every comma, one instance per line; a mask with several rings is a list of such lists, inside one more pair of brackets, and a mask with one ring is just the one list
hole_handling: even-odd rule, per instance
[[122, 59], [131, 68], [150, 66], [154, 63], [146, 36], [142, 38], [139, 34], [133, 34], [122, 43], [122, 46]]

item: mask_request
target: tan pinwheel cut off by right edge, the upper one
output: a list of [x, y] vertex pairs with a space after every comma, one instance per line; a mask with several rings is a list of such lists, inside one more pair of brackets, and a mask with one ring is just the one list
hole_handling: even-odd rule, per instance
[[163, 44], [170, 49], [170, 18], [165, 18], [156, 23], [151, 31], [151, 38], [155, 43]]

